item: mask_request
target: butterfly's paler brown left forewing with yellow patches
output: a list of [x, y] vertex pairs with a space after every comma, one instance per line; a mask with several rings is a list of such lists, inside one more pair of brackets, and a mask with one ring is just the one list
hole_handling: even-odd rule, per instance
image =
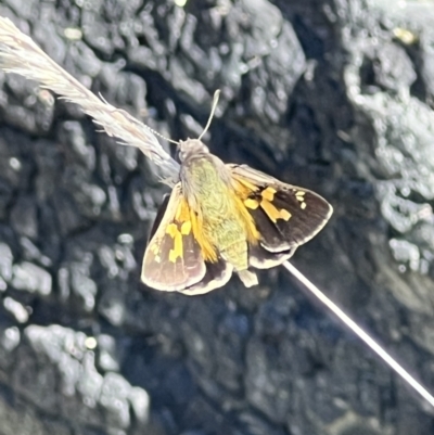
[[178, 183], [158, 210], [144, 253], [141, 279], [151, 287], [174, 292], [196, 284], [205, 273], [201, 247], [194, 239], [188, 205]]

